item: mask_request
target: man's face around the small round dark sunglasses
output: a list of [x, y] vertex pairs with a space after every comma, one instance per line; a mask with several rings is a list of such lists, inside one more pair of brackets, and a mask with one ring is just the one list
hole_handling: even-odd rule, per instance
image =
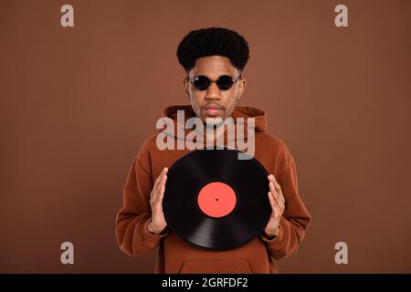
[[[216, 81], [220, 76], [227, 75], [236, 80], [240, 71], [233, 67], [227, 57], [209, 56], [199, 57], [195, 67], [188, 72], [188, 77], [194, 80], [197, 76], [205, 76]], [[188, 95], [195, 115], [201, 120], [206, 118], [222, 118], [231, 116], [246, 87], [246, 79], [237, 79], [230, 89], [221, 90], [212, 82], [208, 89], [195, 89], [188, 79], [184, 78], [184, 90]]]

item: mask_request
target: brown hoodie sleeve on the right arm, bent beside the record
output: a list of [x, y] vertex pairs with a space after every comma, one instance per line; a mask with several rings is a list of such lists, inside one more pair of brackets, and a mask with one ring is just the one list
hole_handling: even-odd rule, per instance
[[269, 238], [262, 234], [260, 237], [266, 243], [269, 255], [279, 260], [297, 252], [305, 231], [311, 223], [311, 215], [300, 199], [296, 165], [292, 157], [285, 170], [274, 176], [281, 186], [285, 209], [279, 221], [279, 235]]

